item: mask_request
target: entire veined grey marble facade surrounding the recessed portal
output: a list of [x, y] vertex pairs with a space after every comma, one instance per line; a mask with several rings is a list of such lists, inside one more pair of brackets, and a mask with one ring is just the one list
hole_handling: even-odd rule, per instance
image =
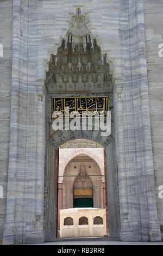
[[[46, 239], [43, 192], [47, 95], [46, 90], [43, 91], [43, 82], [49, 55], [56, 52], [60, 35], [65, 35], [68, 28], [70, 13], [76, 11], [74, 4], [84, 5], [81, 9], [90, 15], [92, 27], [96, 28], [98, 35], [98, 44], [108, 53], [114, 66], [115, 127], [112, 136], [115, 137], [115, 149], [113, 144], [107, 142], [105, 151], [107, 172], [114, 182], [114, 170], [118, 167], [120, 220], [114, 204], [118, 200], [114, 198], [117, 186], [114, 182], [113, 188], [108, 190], [108, 205], [113, 205], [115, 209], [110, 214], [110, 220], [116, 217], [121, 228], [117, 224], [116, 228], [111, 228], [111, 233], [116, 237], [120, 229], [121, 240], [160, 241], [162, 201], [157, 196], [158, 186], [162, 185], [163, 180], [162, 70], [161, 58], [156, 55], [158, 44], [162, 43], [160, 21], [163, 4], [160, 0], [13, 0], [13, 34], [12, 1], [1, 1], [4, 34], [0, 38], [4, 40], [6, 54], [0, 59], [1, 174], [4, 173], [1, 180], [6, 193], [8, 170], [8, 191], [6, 218], [6, 198], [0, 199], [3, 205], [0, 210], [0, 236], [5, 218], [4, 244], [42, 242]], [[59, 145], [59, 141], [66, 141], [66, 138], [78, 137], [76, 133], [64, 136], [60, 136], [60, 133], [54, 136], [54, 144]], [[91, 136], [99, 139], [94, 133]], [[56, 152], [51, 147], [48, 150], [54, 160], [47, 164], [56, 170]], [[51, 176], [55, 179], [54, 172], [48, 175], [49, 179]], [[3, 185], [1, 181], [0, 185]], [[55, 187], [53, 189], [54, 192]], [[46, 217], [47, 220], [51, 218], [51, 222], [45, 221], [46, 230], [52, 229], [54, 222], [51, 209], [55, 210], [55, 207], [50, 205], [53, 198], [49, 199]], [[54, 230], [51, 233], [54, 236]]]

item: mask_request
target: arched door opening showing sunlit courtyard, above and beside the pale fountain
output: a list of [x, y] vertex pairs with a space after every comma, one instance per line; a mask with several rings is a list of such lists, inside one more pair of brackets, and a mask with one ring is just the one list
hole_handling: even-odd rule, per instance
[[74, 139], [59, 147], [58, 168], [58, 237], [59, 210], [70, 208], [106, 209], [104, 148], [89, 139]]

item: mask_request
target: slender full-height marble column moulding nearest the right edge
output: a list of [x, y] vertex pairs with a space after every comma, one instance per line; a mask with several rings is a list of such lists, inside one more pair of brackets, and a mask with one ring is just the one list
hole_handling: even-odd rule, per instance
[[[139, 87], [140, 87], [140, 105], [141, 105], [141, 133], [143, 136], [143, 169], [142, 173], [146, 176], [144, 186], [146, 187], [146, 200], [148, 207], [148, 234], [147, 241], [160, 241], [160, 225], [156, 207], [152, 140], [151, 140], [151, 121], [149, 115], [149, 96], [148, 96], [148, 78], [147, 78], [147, 58], [146, 58], [146, 36], [144, 20], [144, 1], [135, 1], [137, 26], [137, 64], [139, 65]], [[142, 189], [144, 191], [144, 189]], [[147, 213], [146, 213], [147, 215]], [[142, 214], [142, 234], [147, 229], [147, 217]], [[142, 235], [143, 236], [143, 235]]]

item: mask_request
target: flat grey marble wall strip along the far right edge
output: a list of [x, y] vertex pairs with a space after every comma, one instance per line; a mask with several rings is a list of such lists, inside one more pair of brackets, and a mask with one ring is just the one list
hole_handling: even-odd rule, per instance
[[[159, 45], [163, 44], [162, 15], [162, 0], [145, 0], [146, 54], [155, 193], [159, 222], [163, 227], [163, 199], [158, 196], [158, 188], [163, 185], [163, 57], [159, 57]], [[161, 231], [163, 238], [163, 228]]]

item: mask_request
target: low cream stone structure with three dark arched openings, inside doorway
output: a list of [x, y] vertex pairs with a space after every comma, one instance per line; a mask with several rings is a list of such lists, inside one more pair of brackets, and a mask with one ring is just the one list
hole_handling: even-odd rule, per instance
[[71, 208], [60, 210], [60, 237], [106, 236], [106, 210]]

